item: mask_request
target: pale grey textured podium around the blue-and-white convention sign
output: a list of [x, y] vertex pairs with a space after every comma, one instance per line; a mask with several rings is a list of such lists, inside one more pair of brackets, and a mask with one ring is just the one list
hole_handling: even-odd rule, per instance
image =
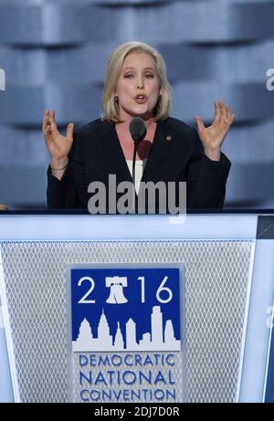
[[161, 263], [185, 267], [187, 402], [273, 402], [273, 223], [258, 213], [3, 213], [0, 400], [68, 402], [68, 264]]

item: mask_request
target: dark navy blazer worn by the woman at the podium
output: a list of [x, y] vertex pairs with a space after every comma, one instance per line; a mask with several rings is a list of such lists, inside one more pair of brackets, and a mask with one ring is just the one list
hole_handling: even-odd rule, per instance
[[[87, 209], [91, 195], [88, 185], [95, 181], [108, 185], [109, 174], [116, 174], [117, 184], [132, 181], [115, 125], [108, 121], [91, 121], [75, 131], [68, 159], [60, 181], [51, 174], [50, 167], [47, 169], [49, 208]], [[230, 162], [223, 153], [219, 162], [205, 156], [195, 129], [183, 121], [168, 118], [157, 122], [142, 181], [176, 185], [185, 181], [188, 208], [221, 208], [229, 168]], [[176, 187], [176, 195], [178, 192]]]

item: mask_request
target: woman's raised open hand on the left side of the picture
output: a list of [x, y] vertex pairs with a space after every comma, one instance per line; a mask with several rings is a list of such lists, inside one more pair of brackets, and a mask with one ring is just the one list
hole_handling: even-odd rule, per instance
[[73, 123], [69, 123], [66, 136], [62, 136], [58, 132], [55, 111], [45, 111], [42, 130], [51, 155], [51, 163], [61, 166], [68, 163], [68, 153], [73, 142], [73, 127]]

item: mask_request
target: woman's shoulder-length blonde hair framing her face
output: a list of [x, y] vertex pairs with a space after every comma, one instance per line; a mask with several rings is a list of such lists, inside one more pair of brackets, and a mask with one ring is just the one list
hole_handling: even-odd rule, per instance
[[148, 44], [135, 41], [122, 44], [111, 54], [102, 96], [103, 119], [109, 122], [121, 122], [119, 103], [115, 100], [115, 91], [123, 61], [132, 52], [149, 54], [155, 60], [160, 79], [161, 95], [153, 110], [154, 121], [165, 120], [169, 116], [171, 108], [171, 87], [166, 79], [166, 68], [163, 57], [155, 48]]

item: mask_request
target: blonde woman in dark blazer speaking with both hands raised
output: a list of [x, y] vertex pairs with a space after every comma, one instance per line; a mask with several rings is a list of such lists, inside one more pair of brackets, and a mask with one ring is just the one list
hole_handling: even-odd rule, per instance
[[[102, 103], [102, 118], [77, 131], [69, 123], [65, 136], [58, 132], [55, 112], [45, 111], [43, 132], [51, 156], [47, 170], [50, 208], [87, 209], [104, 185], [105, 194], [96, 199], [102, 199], [100, 205], [105, 199], [105, 209], [100, 213], [125, 213], [117, 208], [113, 211], [110, 195], [117, 189], [119, 201], [118, 186], [132, 183], [132, 171], [137, 202], [140, 184], [162, 182], [175, 185], [178, 203], [179, 184], [186, 182], [188, 208], [224, 205], [230, 162], [220, 148], [234, 120], [229, 105], [221, 100], [215, 103], [214, 120], [207, 128], [200, 117], [195, 117], [197, 130], [170, 117], [171, 93], [163, 58], [156, 49], [140, 42], [128, 42], [112, 53]], [[144, 122], [143, 140], [137, 145], [129, 129], [136, 117]], [[136, 162], [132, 165], [134, 146]], [[115, 175], [111, 185], [110, 175]], [[97, 192], [90, 187], [94, 183]], [[156, 213], [157, 200], [159, 197]], [[151, 213], [147, 205], [145, 212]]]

